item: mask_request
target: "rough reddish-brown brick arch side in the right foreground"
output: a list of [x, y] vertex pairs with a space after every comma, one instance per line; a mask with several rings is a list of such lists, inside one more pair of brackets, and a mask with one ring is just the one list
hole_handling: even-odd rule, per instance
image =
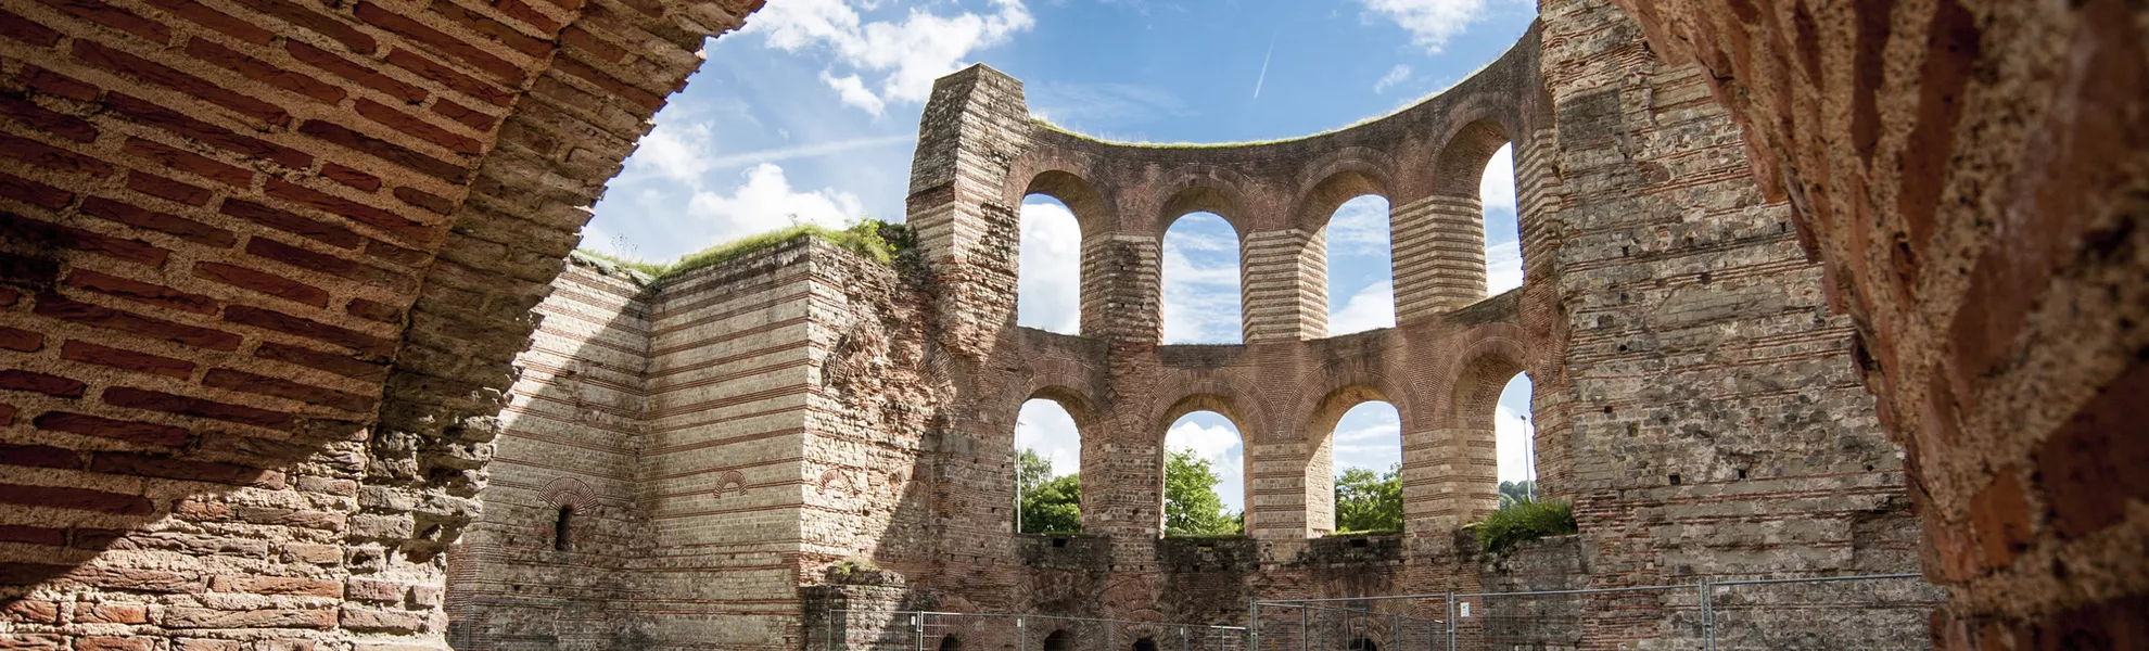
[[2149, 610], [2140, 2], [1620, 0], [1790, 200], [1908, 453], [1951, 649]]

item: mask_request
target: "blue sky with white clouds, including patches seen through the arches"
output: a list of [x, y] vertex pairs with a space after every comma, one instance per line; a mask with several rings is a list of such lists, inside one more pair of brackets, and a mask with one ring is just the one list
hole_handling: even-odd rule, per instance
[[[1528, 28], [1532, 0], [1143, 2], [774, 0], [707, 43], [707, 62], [658, 114], [597, 202], [585, 247], [670, 260], [793, 221], [903, 219], [918, 116], [935, 77], [984, 62], [1025, 82], [1029, 110], [1130, 142], [1292, 138], [1393, 112], [1491, 62]], [[1513, 168], [1487, 174], [1491, 290], [1519, 284]], [[1021, 322], [1072, 331], [1079, 251], [1066, 208], [1023, 206]], [[1330, 333], [1393, 324], [1386, 202], [1360, 198], [1330, 226]], [[1238, 247], [1216, 217], [1165, 241], [1167, 342], [1238, 342]], [[1072, 421], [1023, 408], [1016, 438], [1072, 473]], [[1500, 402], [1502, 479], [1526, 380]], [[1197, 413], [1167, 445], [1208, 455], [1242, 503], [1231, 423]], [[1511, 449], [1513, 447], [1513, 449]], [[1395, 410], [1367, 404], [1337, 428], [1339, 466], [1401, 455]]]

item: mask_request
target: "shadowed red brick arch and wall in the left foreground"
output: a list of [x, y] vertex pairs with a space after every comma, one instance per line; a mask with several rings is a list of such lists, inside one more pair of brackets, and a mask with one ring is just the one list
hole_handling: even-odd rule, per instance
[[752, 6], [0, 9], [11, 645], [441, 647], [531, 307]]

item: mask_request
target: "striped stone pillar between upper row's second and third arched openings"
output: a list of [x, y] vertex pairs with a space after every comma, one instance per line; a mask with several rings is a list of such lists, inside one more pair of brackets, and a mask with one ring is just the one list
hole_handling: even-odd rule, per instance
[[1246, 234], [1240, 245], [1246, 344], [1328, 335], [1326, 238], [1296, 228]]

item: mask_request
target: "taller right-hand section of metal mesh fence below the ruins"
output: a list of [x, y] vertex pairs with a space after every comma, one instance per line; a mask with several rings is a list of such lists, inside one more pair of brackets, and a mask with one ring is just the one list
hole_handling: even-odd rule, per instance
[[[1255, 602], [1257, 651], [1930, 649], [1919, 574]], [[1588, 630], [1584, 630], [1588, 621]], [[1588, 636], [1588, 640], [1584, 640]]]

